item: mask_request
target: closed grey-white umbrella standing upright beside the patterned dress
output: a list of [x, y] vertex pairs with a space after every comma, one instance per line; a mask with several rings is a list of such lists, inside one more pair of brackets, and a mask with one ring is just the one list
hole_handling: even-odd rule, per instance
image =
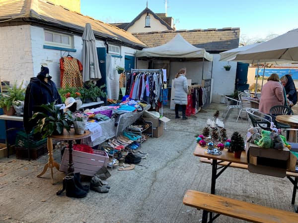
[[101, 78], [98, 57], [95, 45], [95, 37], [92, 32], [91, 24], [86, 23], [83, 36], [83, 82]]

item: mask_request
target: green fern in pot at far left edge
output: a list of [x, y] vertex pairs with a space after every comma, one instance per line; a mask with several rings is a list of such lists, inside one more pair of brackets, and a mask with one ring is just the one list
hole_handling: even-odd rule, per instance
[[[16, 82], [9, 87], [6, 83], [7, 92], [4, 92], [0, 96], [0, 108], [3, 108], [4, 113], [8, 115], [14, 114], [13, 104], [14, 101], [24, 101], [26, 89], [22, 87], [23, 81], [19, 86], [16, 85]], [[10, 111], [10, 112], [9, 112]]]

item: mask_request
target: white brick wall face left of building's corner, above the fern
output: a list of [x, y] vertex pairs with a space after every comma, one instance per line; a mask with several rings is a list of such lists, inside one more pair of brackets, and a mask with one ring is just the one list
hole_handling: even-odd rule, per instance
[[1, 81], [29, 80], [32, 71], [30, 26], [0, 27], [0, 77]]

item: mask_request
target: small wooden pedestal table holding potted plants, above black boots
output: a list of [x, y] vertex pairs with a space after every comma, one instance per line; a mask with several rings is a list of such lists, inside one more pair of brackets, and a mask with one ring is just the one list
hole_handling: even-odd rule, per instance
[[60, 140], [64, 140], [64, 141], [68, 141], [69, 142], [69, 167], [68, 167], [68, 173], [72, 173], [74, 172], [74, 163], [73, 163], [73, 140], [77, 140], [77, 139], [83, 139], [85, 137], [88, 137], [91, 134], [91, 132], [89, 130], [85, 130], [85, 133], [82, 135], [77, 135], [74, 132], [74, 129], [71, 129], [70, 132], [68, 132], [66, 129], [64, 129], [63, 134], [62, 135], [52, 135], [50, 137], [48, 137], [48, 154], [49, 154], [49, 159], [48, 159], [48, 163], [45, 165], [45, 167], [43, 168], [42, 172], [39, 173], [37, 175], [37, 177], [42, 176], [43, 174], [45, 174], [45, 172], [47, 171], [48, 168], [51, 168], [51, 177], [52, 177], [52, 184], [53, 184], [53, 167], [56, 167], [59, 170], [60, 165], [54, 161], [53, 158], [53, 141], [52, 139], [60, 139]]

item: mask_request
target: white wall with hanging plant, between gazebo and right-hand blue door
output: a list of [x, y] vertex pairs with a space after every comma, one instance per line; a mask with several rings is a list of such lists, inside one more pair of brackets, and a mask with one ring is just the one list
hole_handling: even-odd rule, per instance
[[229, 71], [226, 71], [224, 69], [224, 65], [226, 65], [227, 62], [219, 61], [219, 59], [219, 54], [213, 55], [213, 103], [223, 102], [223, 96], [232, 94], [235, 88], [237, 62], [230, 61], [229, 64], [231, 65], [231, 69]]

